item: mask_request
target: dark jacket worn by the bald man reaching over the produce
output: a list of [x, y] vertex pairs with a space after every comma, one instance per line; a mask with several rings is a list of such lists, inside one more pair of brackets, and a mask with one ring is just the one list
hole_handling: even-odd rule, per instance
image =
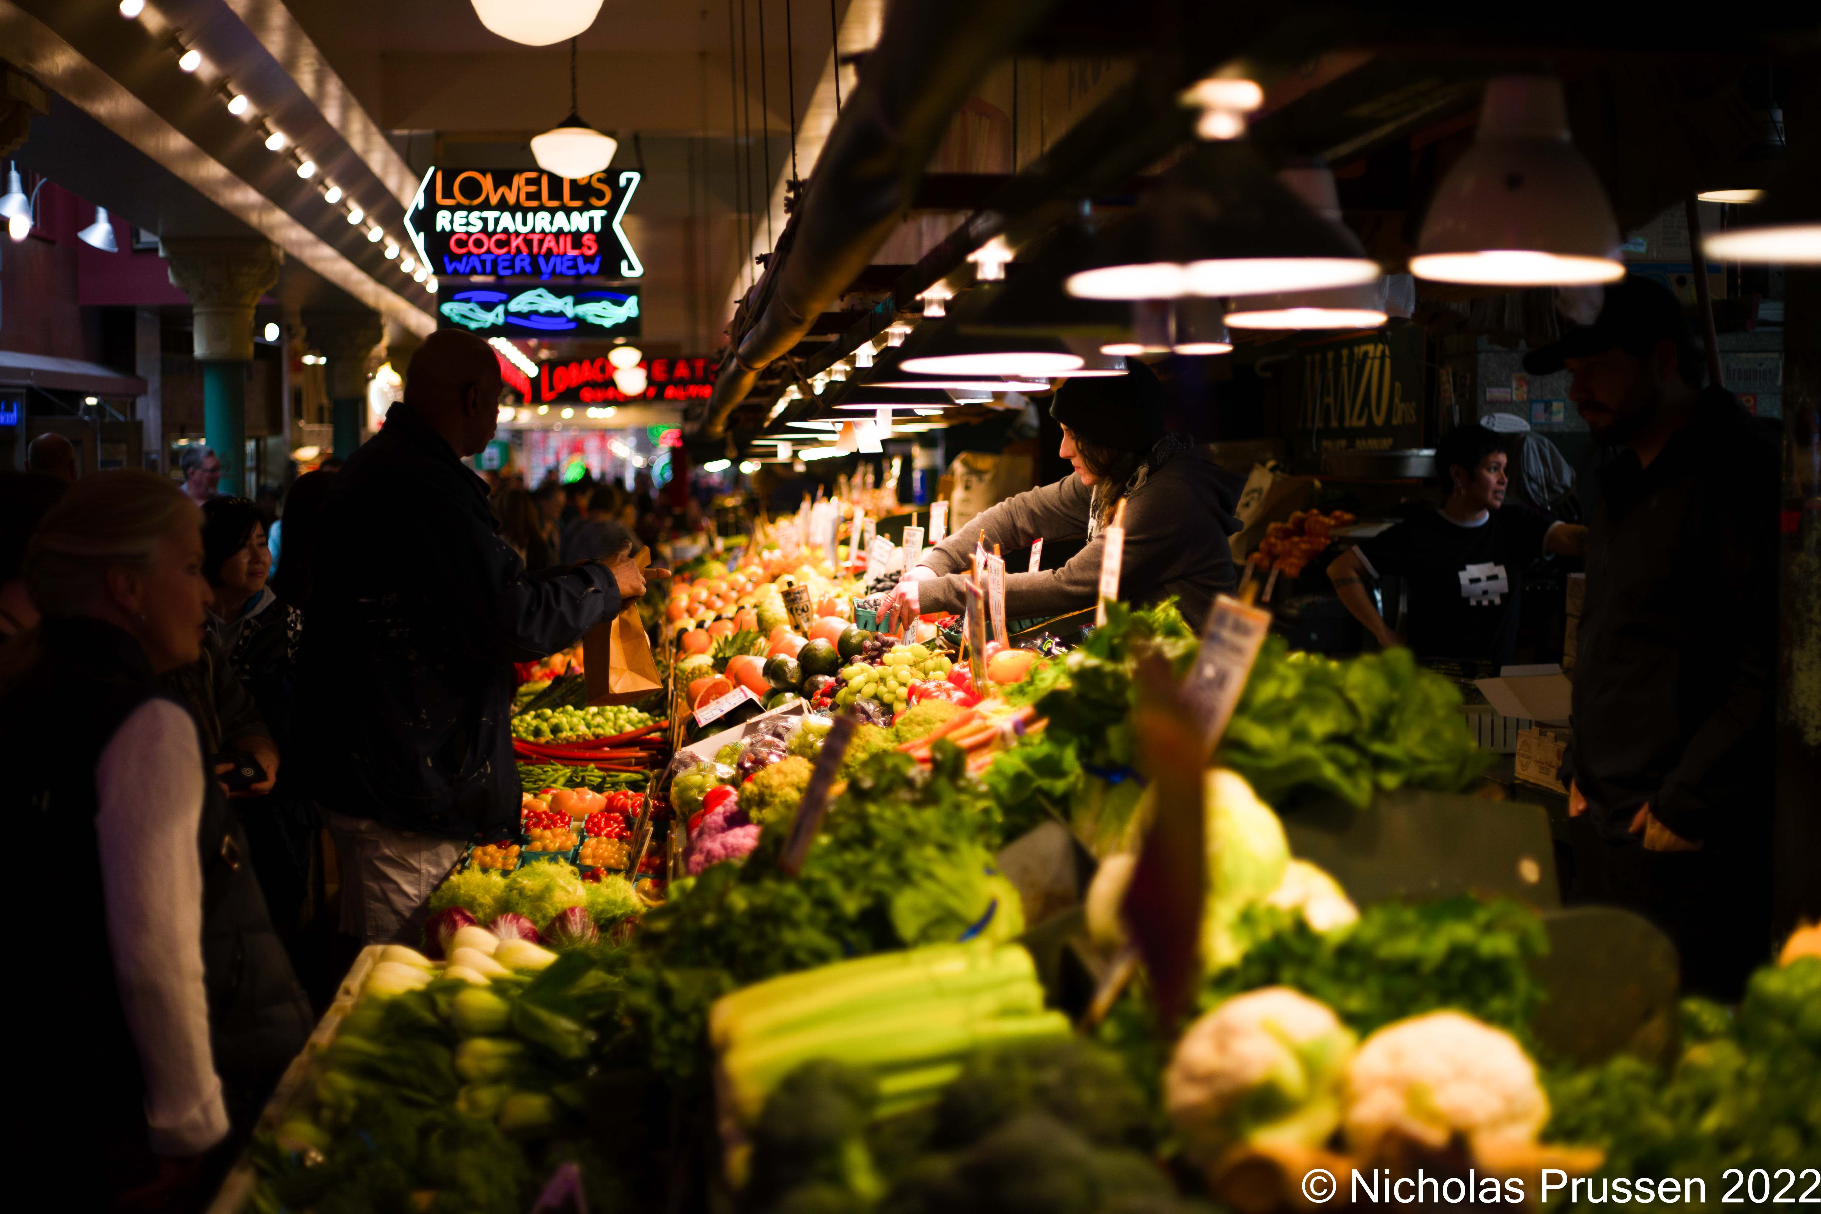
[[317, 539], [297, 723], [317, 801], [444, 839], [517, 826], [512, 663], [617, 613], [605, 566], [526, 575], [486, 482], [392, 406], [335, 477]]

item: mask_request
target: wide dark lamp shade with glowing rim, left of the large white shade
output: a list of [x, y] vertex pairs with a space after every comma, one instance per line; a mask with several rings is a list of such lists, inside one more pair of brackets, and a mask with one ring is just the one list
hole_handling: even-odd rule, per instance
[[1083, 298], [1231, 297], [1377, 277], [1358, 240], [1273, 180], [1244, 140], [1216, 140], [1196, 144], [1067, 289]]

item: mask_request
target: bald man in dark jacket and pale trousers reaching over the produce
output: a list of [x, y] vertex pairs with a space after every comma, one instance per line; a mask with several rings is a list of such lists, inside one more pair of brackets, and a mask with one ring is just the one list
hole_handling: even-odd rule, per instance
[[486, 342], [433, 333], [322, 510], [297, 728], [341, 859], [342, 930], [362, 943], [417, 943], [463, 845], [517, 830], [512, 664], [645, 593], [626, 555], [524, 572], [463, 464], [493, 437], [499, 397]]

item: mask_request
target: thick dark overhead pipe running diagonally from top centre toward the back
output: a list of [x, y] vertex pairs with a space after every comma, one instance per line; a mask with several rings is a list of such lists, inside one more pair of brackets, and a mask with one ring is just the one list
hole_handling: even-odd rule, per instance
[[[910, 207], [923, 167], [980, 78], [1043, 18], [1054, 0], [916, 0], [892, 4], [765, 268], [734, 313], [703, 435], [719, 437], [759, 371], [872, 262]], [[756, 313], [756, 315], [754, 315]], [[741, 328], [741, 320], [754, 317]]]

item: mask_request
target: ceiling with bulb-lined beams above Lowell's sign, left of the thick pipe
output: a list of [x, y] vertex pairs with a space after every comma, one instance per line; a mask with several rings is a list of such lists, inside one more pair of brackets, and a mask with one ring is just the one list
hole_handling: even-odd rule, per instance
[[[781, 4], [763, 44], [758, 7], [739, 31], [727, 5], [679, 0], [608, 0], [581, 35], [579, 109], [619, 135], [615, 169], [645, 171], [625, 228], [646, 268], [648, 342], [714, 348], [752, 238], [734, 211], [781, 193], [790, 115], [801, 129], [847, 7], [796, 5], [792, 55]], [[741, 44], [743, 69], [730, 55]], [[422, 171], [534, 167], [526, 140], [568, 111], [565, 46], [506, 42], [455, 0], [148, 0], [131, 20], [113, 0], [0, 0], [0, 47], [73, 111], [53, 113], [62, 146], [35, 137], [22, 164], [149, 231], [264, 235], [290, 266], [419, 331], [435, 298], [386, 249], [410, 253], [401, 218]], [[193, 73], [178, 66], [186, 47], [202, 56]], [[224, 84], [249, 115], [228, 113]], [[95, 135], [84, 122], [138, 149], [135, 171], [122, 178], [73, 142]], [[268, 131], [282, 149], [266, 147]], [[745, 187], [736, 137], [741, 167], [752, 153]], [[326, 184], [344, 197], [328, 202]]]

